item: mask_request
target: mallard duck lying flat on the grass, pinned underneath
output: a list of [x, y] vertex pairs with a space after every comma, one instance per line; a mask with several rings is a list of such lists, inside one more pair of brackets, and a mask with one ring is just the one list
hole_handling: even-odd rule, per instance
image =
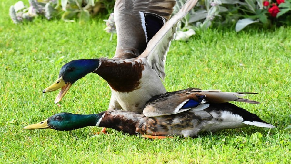
[[203, 131], [216, 132], [248, 125], [275, 128], [256, 114], [229, 103], [229, 101], [258, 103], [240, 98], [245, 93], [248, 92], [231, 93], [188, 88], [152, 97], [144, 108], [144, 113], [123, 110], [107, 110], [89, 115], [59, 113], [24, 128], [69, 131], [86, 126], [99, 126], [130, 135], [141, 134], [147, 138], [172, 135], [194, 137]]

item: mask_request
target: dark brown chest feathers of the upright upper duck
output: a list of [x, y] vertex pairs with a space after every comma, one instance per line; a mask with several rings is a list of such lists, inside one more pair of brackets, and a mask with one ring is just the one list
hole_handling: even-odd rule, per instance
[[138, 61], [103, 60], [94, 72], [118, 92], [131, 92], [139, 88], [144, 65]]

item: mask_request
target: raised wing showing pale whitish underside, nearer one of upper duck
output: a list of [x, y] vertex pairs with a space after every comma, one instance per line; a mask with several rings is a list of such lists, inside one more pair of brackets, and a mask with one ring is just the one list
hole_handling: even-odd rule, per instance
[[171, 40], [175, 37], [177, 23], [196, 5], [198, 0], [188, 0], [184, 6], [176, 13], [149, 41], [146, 50], [139, 58], [147, 58], [147, 62], [152, 66], [159, 77], [164, 79], [164, 65], [167, 51]]

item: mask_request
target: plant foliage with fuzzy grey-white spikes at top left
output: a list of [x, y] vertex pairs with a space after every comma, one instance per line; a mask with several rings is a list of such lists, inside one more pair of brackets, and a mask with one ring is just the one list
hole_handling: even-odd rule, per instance
[[28, 0], [29, 7], [18, 1], [10, 7], [10, 17], [14, 23], [32, 21], [37, 16], [48, 20], [61, 18], [66, 22], [74, 22], [75, 18], [80, 23], [96, 15], [101, 8], [111, 11], [114, 1], [110, 0]]

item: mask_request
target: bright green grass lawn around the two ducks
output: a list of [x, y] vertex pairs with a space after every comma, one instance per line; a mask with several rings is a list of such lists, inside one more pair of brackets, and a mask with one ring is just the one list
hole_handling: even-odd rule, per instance
[[[237, 105], [278, 128], [258, 127], [206, 133], [196, 139], [145, 140], [99, 127], [71, 132], [24, 130], [59, 112], [98, 113], [107, 109], [105, 80], [89, 74], [61, 101], [42, 94], [61, 66], [73, 59], [112, 57], [116, 36], [102, 19], [78, 23], [37, 19], [14, 25], [9, 6], [0, 2], [0, 161], [1, 163], [290, 163], [291, 27], [276, 30], [233, 29], [199, 32], [189, 42], [172, 42], [165, 87], [258, 92], [248, 98], [262, 104]], [[26, 2], [27, 3], [27, 2]]]

